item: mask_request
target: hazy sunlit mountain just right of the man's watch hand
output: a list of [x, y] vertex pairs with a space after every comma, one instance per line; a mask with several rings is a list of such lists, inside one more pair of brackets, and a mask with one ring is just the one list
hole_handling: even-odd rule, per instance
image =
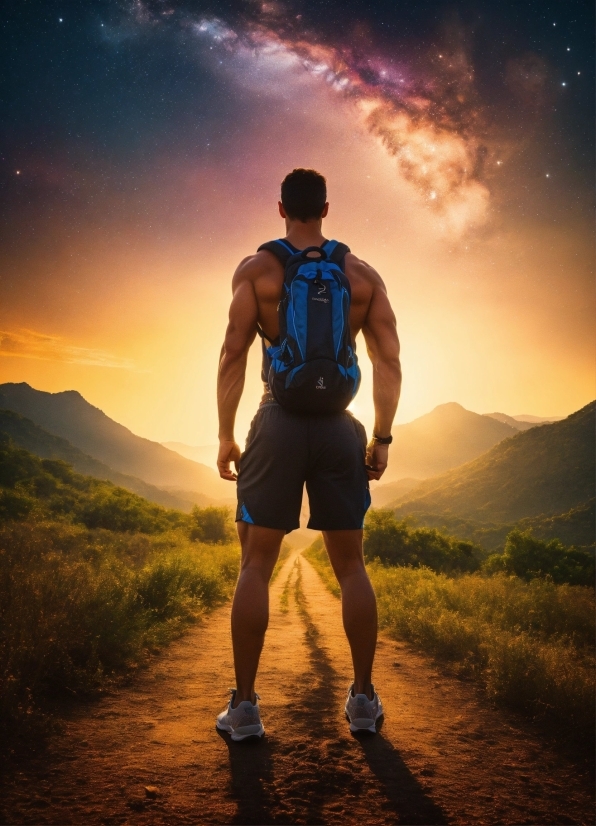
[[450, 402], [391, 431], [393, 444], [383, 481], [427, 479], [463, 465], [519, 431]]

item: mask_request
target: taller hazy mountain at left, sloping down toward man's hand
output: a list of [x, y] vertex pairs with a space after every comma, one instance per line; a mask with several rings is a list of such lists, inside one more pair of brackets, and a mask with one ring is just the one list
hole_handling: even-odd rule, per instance
[[151, 485], [197, 491], [214, 499], [234, 496], [233, 486], [215, 470], [135, 436], [76, 390], [45, 393], [24, 382], [1, 384], [0, 408], [20, 413], [83, 453]]

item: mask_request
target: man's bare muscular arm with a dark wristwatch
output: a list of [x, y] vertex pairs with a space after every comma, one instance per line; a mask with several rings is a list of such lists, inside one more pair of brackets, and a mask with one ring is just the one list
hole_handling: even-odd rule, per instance
[[[375, 276], [375, 288], [362, 333], [373, 366], [373, 433], [389, 436], [401, 391], [399, 339], [385, 285], [380, 276], [376, 273]], [[373, 468], [368, 471], [369, 479], [381, 478], [387, 467], [388, 454], [389, 445], [380, 445], [371, 439], [366, 451], [367, 464]]]

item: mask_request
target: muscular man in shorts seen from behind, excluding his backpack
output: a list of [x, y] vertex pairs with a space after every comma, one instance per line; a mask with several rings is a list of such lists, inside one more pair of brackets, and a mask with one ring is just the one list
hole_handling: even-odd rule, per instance
[[[279, 214], [289, 249], [325, 243], [322, 222], [329, 210], [326, 181], [312, 169], [295, 169], [281, 186]], [[246, 450], [234, 439], [234, 421], [244, 387], [248, 351], [257, 331], [279, 335], [278, 304], [284, 267], [269, 250], [245, 258], [234, 274], [229, 324], [219, 366], [220, 476], [238, 481], [240, 577], [232, 606], [236, 689], [217, 720], [234, 740], [264, 732], [254, 683], [269, 617], [269, 579], [285, 533], [299, 526], [303, 485], [309, 495], [309, 527], [323, 533], [342, 593], [354, 683], [346, 713], [352, 731], [375, 732], [382, 706], [371, 683], [377, 640], [375, 596], [362, 555], [362, 525], [370, 504], [368, 482], [387, 467], [391, 426], [401, 387], [395, 317], [378, 273], [347, 253], [352, 340], [362, 331], [373, 365], [375, 424], [366, 445], [362, 425], [348, 412], [299, 415], [280, 406], [265, 384]], [[267, 365], [265, 365], [266, 369]], [[266, 369], [263, 374], [266, 380]], [[232, 471], [234, 464], [238, 476]]]

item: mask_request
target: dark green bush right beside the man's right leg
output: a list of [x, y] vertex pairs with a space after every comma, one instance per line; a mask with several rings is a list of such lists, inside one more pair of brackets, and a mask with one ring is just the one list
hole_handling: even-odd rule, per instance
[[482, 549], [444, 536], [434, 528], [411, 528], [389, 510], [369, 511], [364, 525], [364, 558], [384, 565], [425, 566], [433, 571], [476, 571]]

